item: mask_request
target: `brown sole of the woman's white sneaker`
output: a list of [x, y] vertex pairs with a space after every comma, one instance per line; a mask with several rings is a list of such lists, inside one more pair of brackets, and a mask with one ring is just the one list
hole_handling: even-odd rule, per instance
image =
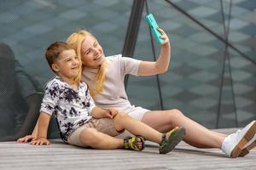
[[245, 135], [240, 140], [240, 142], [238, 144], [236, 144], [236, 147], [232, 150], [232, 152], [231, 152], [232, 158], [236, 158], [241, 154], [241, 150], [243, 149], [243, 147], [247, 144], [247, 142], [250, 139], [253, 139], [255, 133], [256, 133], [256, 122], [253, 121], [253, 125], [248, 128], [247, 133], [245, 133]]

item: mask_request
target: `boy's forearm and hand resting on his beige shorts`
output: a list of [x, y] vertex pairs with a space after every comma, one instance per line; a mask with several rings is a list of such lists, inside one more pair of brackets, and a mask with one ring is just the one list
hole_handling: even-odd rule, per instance
[[104, 110], [100, 107], [95, 106], [91, 111], [91, 116], [93, 116], [96, 119], [100, 119], [100, 118], [113, 119], [113, 117], [116, 116], [118, 113], [119, 113], [119, 111], [117, 111], [115, 109]]

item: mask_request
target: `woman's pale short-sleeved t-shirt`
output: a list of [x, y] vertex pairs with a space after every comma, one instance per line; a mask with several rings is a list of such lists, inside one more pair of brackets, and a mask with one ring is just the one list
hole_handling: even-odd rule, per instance
[[[122, 57], [121, 54], [106, 57], [107, 73], [103, 84], [103, 92], [96, 94], [94, 98], [97, 106], [102, 109], [116, 108], [119, 111], [129, 113], [134, 109], [125, 93], [125, 75], [137, 76], [141, 60]], [[95, 86], [96, 73], [98, 69], [85, 67], [82, 73], [82, 81], [89, 87]]]

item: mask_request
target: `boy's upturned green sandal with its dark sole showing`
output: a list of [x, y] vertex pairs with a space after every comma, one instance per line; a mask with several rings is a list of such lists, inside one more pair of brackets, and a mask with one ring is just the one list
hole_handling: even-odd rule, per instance
[[172, 129], [168, 133], [164, 133], [159, 148], [160, 154], [166, 154], [173, 150], [174, 147], [183, 139], [184, 136], [184, 127], [178, 127], [177, 129]]

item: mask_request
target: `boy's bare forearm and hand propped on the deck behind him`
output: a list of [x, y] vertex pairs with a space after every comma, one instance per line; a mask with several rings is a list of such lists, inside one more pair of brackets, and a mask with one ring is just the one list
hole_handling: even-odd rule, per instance
[[[49, 127], [49, 120], [50, 120], [50, 115], [45, 113], [45, 112], [41, 112], [39, 119], [38, 119], [38, 135], [37, 135], [37, 139], [32, 140], [31, 144], [34, 145], [43, 145], [43, 144], [47, 144], [49, 145], [49, 140], [47, 139], [47, 131], [48, 131], [48, 127]], [[36, 133], [37, 131], [35, 131]]]

